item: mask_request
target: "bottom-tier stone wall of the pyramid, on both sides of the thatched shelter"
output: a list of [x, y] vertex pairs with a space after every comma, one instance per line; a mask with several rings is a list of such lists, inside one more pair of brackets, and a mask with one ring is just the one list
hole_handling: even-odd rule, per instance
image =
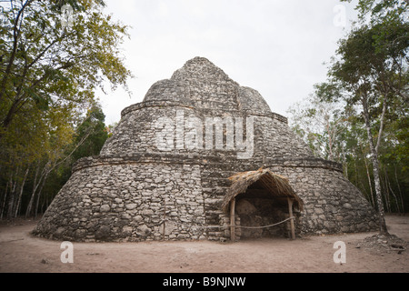
[[75, 241], [229, 238], [230, 218], [221, 209], [227, 178], [261, 166], [288, 177], [304, 201], [297, 220], [302, 234], [376, 229], [374, 210], [336, 163], [311, 157], [237, 161], [233, 154], [216, 154], [84, 158], [35, 233]]

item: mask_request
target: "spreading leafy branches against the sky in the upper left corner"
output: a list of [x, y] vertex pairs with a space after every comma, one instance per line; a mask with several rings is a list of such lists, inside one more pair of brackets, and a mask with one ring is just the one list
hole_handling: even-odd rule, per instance
[[[73, 26], [61, 8], [74, 7]], [[98, 0], [10, 1], [0, 18], [0, 139], [27, 105], [77, 108], [91, 103], [108, 80], [115, 88], [132, 76], [119, 45], [126, 26], [104, 15]]]

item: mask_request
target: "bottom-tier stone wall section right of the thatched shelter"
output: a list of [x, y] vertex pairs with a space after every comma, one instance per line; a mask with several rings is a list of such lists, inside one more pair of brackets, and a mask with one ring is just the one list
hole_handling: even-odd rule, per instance
[[303, 233], [334, 234], [375, 230], [376, 214], [364, 196], [342, 174], [323, 167], [271, 166], [287, 176], [304, 201]]

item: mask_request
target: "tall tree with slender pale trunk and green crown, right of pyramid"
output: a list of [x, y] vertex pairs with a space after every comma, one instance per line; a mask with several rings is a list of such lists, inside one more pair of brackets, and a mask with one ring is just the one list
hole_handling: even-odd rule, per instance
[[[384, 122], [394, 99], [407, 98], [409, 25], [407, 2], [361, 0], [361, 23], [342, 39], [330, 67], [330, 83], [347, 105], [360, 105], [374, 171], [380, 233], [387, 234], [381, 194], [379, 149]], [[369, 21], [364, 18], [369, 15]], [[365, 23], [366, 22], [366, 23]], [[339, 96], [339, 94], [334, 94]], [[332, 99], [334, 99], [334, 96]]]

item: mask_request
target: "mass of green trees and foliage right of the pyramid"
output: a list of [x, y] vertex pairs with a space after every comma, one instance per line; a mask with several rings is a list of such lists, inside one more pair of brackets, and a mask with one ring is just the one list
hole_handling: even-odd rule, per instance
[[[373, 206], [382, 196], [389, 212], [409, 209], [408, 5], [358, 1], [359, 21], [339, 41], [327, 81], [314, 86], [301, 110], [290, 110], [294, 131], [314, 155], [328, 158], [333, 147], [344, 175]], [[318, 108], [331, 104], [343, 109], [330, 111], [323, 123]], [[340, 116], [344, 122], [334, 127]], [[338, 128], [335, 135], [328, 135], [331, 128]]]

